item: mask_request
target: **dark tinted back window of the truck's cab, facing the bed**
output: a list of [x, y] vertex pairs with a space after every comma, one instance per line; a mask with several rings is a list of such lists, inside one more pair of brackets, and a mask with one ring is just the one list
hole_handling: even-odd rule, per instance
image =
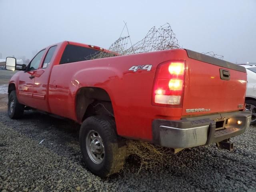
[[92, 60], [100, 54], [101, 50], [68, 44], [60, 59], [60, 64]]

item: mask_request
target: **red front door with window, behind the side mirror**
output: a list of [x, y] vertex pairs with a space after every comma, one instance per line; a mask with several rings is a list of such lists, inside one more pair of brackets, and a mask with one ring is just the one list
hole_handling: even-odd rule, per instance
[[18, 82], [18, 100], [26, 106], [35, 107], [33, 100], [34, 78], [36, 69], [40, 66], [44, 53], [45, 49], [38, 52], [38, 54], [36, 54], [28, 64], [28, 69], [25, 72], [20, 72]]

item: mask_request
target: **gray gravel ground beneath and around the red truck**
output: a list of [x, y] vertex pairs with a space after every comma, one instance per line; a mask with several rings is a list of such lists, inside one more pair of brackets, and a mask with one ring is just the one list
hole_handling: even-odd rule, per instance
[[218, 150], [213, 144], [189, 148], [170, 156], [163, 169], [140, 173], [138, 160], [128, 158], [119, 174], [102, 179], [90, 173], [82, 161], [78, 124], [32, 111], [26, 111], [20, 120], [10, 120], [6, 94], [0, 94], [0, 105], [2, 192], [256, 192], [254, 126], [232, 138], [232, 152]]

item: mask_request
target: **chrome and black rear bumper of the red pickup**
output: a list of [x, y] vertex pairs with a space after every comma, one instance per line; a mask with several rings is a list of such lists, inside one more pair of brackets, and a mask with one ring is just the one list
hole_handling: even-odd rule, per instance
[[[222, 123], [217, 123], [220, 121]], [[242, 123], [237, 124], [240, 120]], [[170, 148], [208, 145], [238, 136], [250, 125], [251, 112], [238, 111], [181, 120], [155, 119], [152, 123], [153, 143]], [[217, 128], [216, 128], [217, 125]], [[217, 129], [221, 130], [217, 130]]]

